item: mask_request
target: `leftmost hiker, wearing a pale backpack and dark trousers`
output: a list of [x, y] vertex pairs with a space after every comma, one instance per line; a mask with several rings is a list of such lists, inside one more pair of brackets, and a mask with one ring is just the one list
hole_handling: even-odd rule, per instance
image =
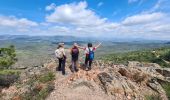
[[58, 69], [56, 68], [56, 70], [62, 71], [62, 74], [65, 75], [66, 54], [64, 50], [64, 43], [58, 44], [57, 50], [55, 50], [55, 55], [59, 61]]

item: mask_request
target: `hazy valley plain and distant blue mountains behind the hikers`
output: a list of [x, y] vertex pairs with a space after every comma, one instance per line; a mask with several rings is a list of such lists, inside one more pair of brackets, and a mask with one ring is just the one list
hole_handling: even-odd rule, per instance
[[[97, 38], [78, 38], [73, 36], [0, 36], [0, 47], [14, 45], [17, 52], [17, 66], [36, 66], [55, 58], [54, 50], [58, 42], [66, 44], [66, 50], [71, 48], [74, 42], [86, 46], [88, 42], [94, 45], [102, 42], [102, 46], [96, 51], [96, 59], [109, 54], [120, 54], [130, 51], [150, 50], [153, 48], [170, 47], [167, 41], [137, 41], [137, 40], [101, 40]], [[69, 53], [69, 51], [67, 51]], [[81, 52], [81, 57], [84, 52]], [[69, 55], [69, 54], [68, 54]], [[69, 58], [69, 56], [68, 56]]]

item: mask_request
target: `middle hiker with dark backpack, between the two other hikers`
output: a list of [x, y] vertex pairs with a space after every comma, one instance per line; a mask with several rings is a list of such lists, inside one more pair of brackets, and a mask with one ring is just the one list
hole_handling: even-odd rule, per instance
[[79, 59], [79, 49], [77, 47], [77, 43], [73, 44], [73, 47], [70, 50], [71, 54], [71, 71], [72, 72], [77, 72], [77, 66], [78, 66], [78, 59]]

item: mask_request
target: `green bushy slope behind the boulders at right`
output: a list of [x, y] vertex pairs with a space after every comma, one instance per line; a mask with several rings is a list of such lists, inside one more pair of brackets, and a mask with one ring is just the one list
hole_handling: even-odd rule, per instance
[[162, 67], [170, 67], [170, 48], [159, 48], [127, 53], [110, 54], [102, 57], [105, 61], [127, 64], [128, 61], [157, 63]]

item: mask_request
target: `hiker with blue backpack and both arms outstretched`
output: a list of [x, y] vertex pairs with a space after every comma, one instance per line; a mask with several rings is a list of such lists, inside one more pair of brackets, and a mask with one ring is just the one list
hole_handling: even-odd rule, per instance
[[79, 48], [83, 49], [85, 51], [85, 70], [91, 70], [92, 62], [94, 60], [94, 52], [96, 49], [101, 45], [99, 43], [97, 46], [93, 47], [92, 43], [88, 43], [87, 47], [80, 47]]

